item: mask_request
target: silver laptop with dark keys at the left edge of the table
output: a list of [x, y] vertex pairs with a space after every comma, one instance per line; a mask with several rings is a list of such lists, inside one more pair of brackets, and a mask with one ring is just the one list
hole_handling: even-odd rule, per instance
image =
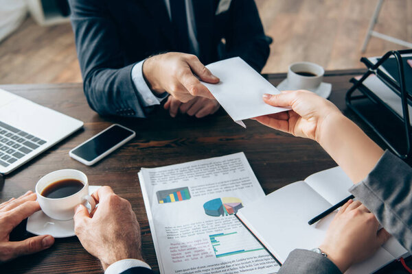
[[82, 121], [0, 89], [0, 173], [10, 173], [82, 126]]

